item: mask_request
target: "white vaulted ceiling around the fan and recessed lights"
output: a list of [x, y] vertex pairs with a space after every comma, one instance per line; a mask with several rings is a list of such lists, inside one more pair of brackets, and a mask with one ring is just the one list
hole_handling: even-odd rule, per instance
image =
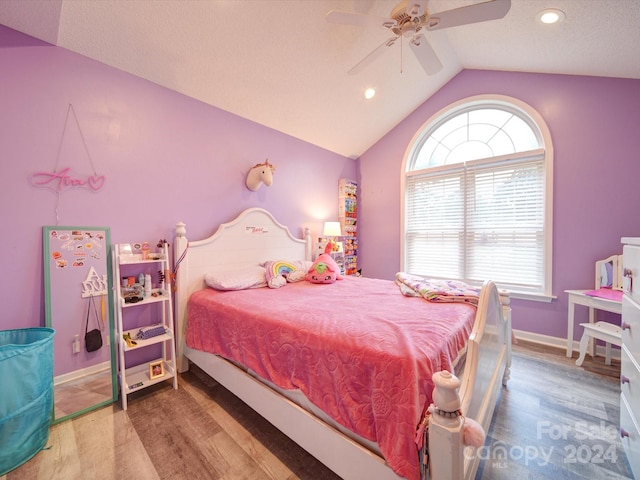
[[[352, 158], [465, 68], [640, 78], [639, 0], [512, 0], [500, 20], [426, 32], [443, 64], [436, 74], [407, 39], [348, 74], [389, 31], [330, 24], [326, 14], [388, 17], [397, 3], [2, 0], [0, 24]], [[547, 7], [564, 21], [538, 22]]]

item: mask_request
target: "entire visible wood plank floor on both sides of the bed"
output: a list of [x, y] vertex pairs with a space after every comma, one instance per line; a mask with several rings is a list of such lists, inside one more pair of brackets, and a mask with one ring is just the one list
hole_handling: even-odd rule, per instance
[[[619, 363], [520, 344], [476, 480], [632, 479], [618, 435]], [[0, 480], [334, 480], [198, 369], [51, 428], [47, 449]], [[375, 480], [375, 479], [372, 479]]]

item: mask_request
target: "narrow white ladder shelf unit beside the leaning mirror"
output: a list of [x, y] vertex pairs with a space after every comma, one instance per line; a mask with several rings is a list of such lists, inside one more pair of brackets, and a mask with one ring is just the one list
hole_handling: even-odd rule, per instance
[[[176, 371], [176, 345], [173, 324], [173, 304], [171, 298], [170, 283], [166, 278], [170, 272], [169, 249], [166, 243], [158, 252], [151, 254], [153, 258], [143, 259], [142, 254], [128, 253], [129, 248], [122, 253], [122, 245], [114, 245], [113, 247], [113, 268], [114, 278], [118, 282], [116, 287], [115, 312], [117, 317], [117, 345], [118, 345], [118, 380], [120, 382], [120, 397], [122, 400], [122, 409], [127, 409], [127, 396], [142, 390], [143, 388], [155, 385], [166, 380], [171, 380], [173, 388], [178, 388], [178, 376]], [[161, 275], [158, 272], [162, 272]], [[142, 296], [137, 298], [141, 300], [135, 303], [125, 301], [122, 279], [133, 277], [137, 279], [140, 274], [149, 275], [153, 288], [150, 292], [144, 294], [144, 288], [139, 288]], [[138, 283], [135, 283], [136, 287]], [[127, 287], [128, 288], [128, 287]], [[132, 327], [132, 316], [135, 310], [142, 310], [143, 307], [152, 309], [145, 312], [146, 317], [144, 324]], [[146, 318], [152, 320], [147, 321]], [[137, 334], [141, 328], [163, 327], [165, 333], [155, 335], [146, 339], [138, 339]], [[125, 335], [129, 335], [136, 342], [134, 346], [129, 346], [125, 341]], [[127, 353], [134, 350], [141, 350], [153, 345], [161, 346], [161, 356], [152, 360], [143, 362], [139, 365], [126, 367]], [[158, 348], [160, 350], [160, 348]], [[162, 362], [163, 374], [158, 377], [151, 378], [150, 365]]]

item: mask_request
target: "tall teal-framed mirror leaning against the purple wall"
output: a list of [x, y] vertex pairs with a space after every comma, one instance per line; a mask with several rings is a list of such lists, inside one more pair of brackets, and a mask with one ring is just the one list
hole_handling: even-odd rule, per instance
[[[45, 317], [56, 332], [53, 423], [117, 400], [110, 243], [108, 227], [43, 227]], [[87, 330], [100, 332], [101, 346], [87, 348]]]

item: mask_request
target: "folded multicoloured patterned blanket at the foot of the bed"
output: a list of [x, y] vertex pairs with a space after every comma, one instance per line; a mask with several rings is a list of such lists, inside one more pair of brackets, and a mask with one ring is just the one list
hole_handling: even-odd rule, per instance
[[396, 284], [403, 295], [422, 297], [430, 302], [461, 302], [478, 305], [480, 288], [457, 280], [438, 280], [405, 272], [396, 273]]

